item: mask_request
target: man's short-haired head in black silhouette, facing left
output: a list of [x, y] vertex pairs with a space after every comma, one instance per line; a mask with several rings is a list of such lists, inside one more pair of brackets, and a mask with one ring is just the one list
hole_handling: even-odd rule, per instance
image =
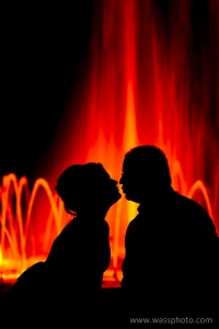
[[119, 183], [126, 198], [137, 203], [169, 190], [171, 174], [164, 152], [151, 145], [130, 149], [124, 158]]

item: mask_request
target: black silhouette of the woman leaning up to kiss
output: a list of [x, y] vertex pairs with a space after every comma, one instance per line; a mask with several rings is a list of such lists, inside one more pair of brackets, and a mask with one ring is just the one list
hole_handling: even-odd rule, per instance
[[83, 306], [99, 294], [110, 266], [105, 216], [122, 196], [117, 181], [101, 163], [72, 164], [59, 175], [55, 190], [72, 220], [53, 242], [47, 259], [27, 269], [8, 291], [7, 297], [14, 303], [27, 306], [41, 300], [46, 309], [48, 303], [58, 308]]

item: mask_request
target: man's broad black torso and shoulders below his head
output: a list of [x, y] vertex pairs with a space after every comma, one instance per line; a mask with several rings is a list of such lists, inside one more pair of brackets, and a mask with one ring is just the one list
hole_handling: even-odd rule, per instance
[[212, 298], [218, 240], [205, 209], [173, 190], [153, 205], [141, 203], [127, 228], [122, 286], [154, 305], [158, 299], [182, 306], [182, 300], [193, 305]]

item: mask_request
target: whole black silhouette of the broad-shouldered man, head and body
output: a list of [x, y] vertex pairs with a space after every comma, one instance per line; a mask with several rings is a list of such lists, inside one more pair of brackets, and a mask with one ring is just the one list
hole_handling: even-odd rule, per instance
[[216, 228], [204, 207], [173, 190], [164, 152], [150, 145], [130, 149], [119, 183], [126, 198], [139, 204], [125, 236], [122, 288], [130, 297], [127, 306], [145, 316], [214, 313]]

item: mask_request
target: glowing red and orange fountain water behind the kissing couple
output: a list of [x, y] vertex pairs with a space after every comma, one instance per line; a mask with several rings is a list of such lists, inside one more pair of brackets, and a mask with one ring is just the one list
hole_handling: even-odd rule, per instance
[[[3, 280], [44, 260], [69, 220], [54, 191], [59, 173], [73, 162], [101, 161], [119, 180], [124, 154], [137, 145], [164, 150], [173, 188], [197, 200], [219, 234], [219, 1], [208, 2], [207, 46], [194, 46], [193, 1], [178, 0], [169, 8], [169, 19], [152, 0], [96, 3], [84, 82], [69, 101], [48, 158], [42, 159], [46, 179], [31, 189], [26, 178], [2, 179]], [[107, 214], [111, 268], [118, 275], [125, 231], [137, 206], [122, 197]]]

